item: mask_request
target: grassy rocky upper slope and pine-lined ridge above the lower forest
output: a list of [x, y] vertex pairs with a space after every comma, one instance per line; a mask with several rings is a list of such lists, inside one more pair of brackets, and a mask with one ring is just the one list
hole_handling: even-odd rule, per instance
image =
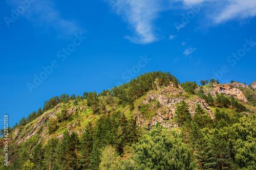
[[[230, 89], [236, 92], [230, 93]], [[245, 95], [243, 91], [246, 92]], [[75, 133], [81, 137], [86, 133], [89, 124], [96, 126], [102, 116], [114, 113], [121, 113], [140, 131], [152, 131], [161, 126], [177, 132], [184, 126], [180, 123], [177, 112], [177, 108], [181, 106], [187, 108], [187, 116], [191, 119], [198, 118], [201, 110], [204, 116], [199, 117], [199, 120], [204, 121], [206, 118], [208, 122], [216, 121], [217, 110], [226, 112], [230, 118], [255, 115], [256, 107], [252, 102], [256, 100], [246, 99], [250, 93], [254, 96], [254, 90], [250, 86], [239, 82], [218, 84], [211, 81], [204, 86], [195, 82], [180, 84], [169, 72], [160, 71], [141, 75], [119, 87], [103, 90], [100, 94], [84, 92], [83, 97], [63, 94], [46, 101], [44, 112], [31, 122], [25, 125], [20, 122], [12, 129], [9, 143], [19, 152], [13, 154], [10, 163], [15, 163], [19, 157], [19, 147], [27, 146], [28, 152], [32, 152], [39, 143], [46, 146], [53, 138], [61, 141], [66, 132], [69, 136]], [[184, 115], [185, 112], [182, 113]], [[3, 137], [1, 140], [3, 141]], [[122, 148], [121, 152], [126, 149]], [[127, 154], [131, 154], [131, 151]]]

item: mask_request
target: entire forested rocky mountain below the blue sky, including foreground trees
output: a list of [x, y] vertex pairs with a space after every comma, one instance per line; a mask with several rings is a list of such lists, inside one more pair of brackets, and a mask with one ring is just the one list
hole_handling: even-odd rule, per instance
[[8, 128], [0, 168], [255, 169], [255, 82], [200, 86], [154, 71], [99, 94], [54, 96]]

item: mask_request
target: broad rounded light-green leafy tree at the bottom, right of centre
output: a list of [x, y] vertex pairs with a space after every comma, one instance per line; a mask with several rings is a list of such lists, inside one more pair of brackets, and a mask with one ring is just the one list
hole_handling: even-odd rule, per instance
[[146, 133], [133, 145], [135, 169], [196, 169], [193, 151], [182, 137], [158, 128]]

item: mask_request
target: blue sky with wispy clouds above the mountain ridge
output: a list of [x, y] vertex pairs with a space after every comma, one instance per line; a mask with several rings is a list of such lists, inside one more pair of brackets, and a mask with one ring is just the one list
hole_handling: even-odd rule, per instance
[[0, 126], [5, 114], [13, 126], [52, 96], [100, 92], [154, 70], [198, 84], [256, 80], [256, 1], [10, 0], [0, 8]]

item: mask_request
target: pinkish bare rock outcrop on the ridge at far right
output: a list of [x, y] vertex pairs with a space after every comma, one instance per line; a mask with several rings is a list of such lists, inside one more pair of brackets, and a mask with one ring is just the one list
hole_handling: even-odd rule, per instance
[[214, 84], [214, 89], [210, 91], [211, 95], [216, 96], [216, 91], [218, 93], [233, 96], [236, 99], [240, 99], [246, 103], [249, 103], [241, 90], [238, 88], [230, 88], [228, 84]]

